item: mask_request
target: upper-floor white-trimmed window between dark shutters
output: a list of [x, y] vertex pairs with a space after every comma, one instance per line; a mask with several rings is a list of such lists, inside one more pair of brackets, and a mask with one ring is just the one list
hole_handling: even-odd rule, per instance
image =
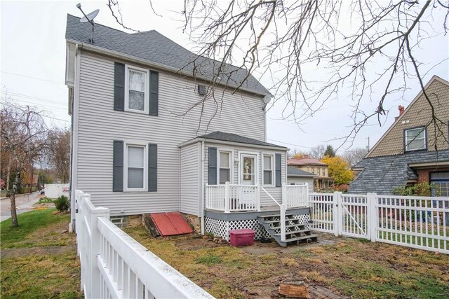
[[141, 113], [148, 112], [149, 71], [138, 67], [126, 66], [125, 73], [125, 109]]

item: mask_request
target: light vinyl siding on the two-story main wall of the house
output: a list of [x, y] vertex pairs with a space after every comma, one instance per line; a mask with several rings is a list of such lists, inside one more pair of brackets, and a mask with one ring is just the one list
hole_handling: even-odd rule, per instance
[[[178, 144], [205, 134], [206, 127], [208, 132], [232, 132], [264, 140], [262, 97], [225, 92], [220, 113], [210, 120], [215, 106], [213, 101], [206, 102], [203, 121], [199, 124], [200, 106], [186, 116], [177, 116], [201, 99], [196, 90], [195, 81], [159, 71], [157, 118], [114, 111], [114, 60], [81, 49], [79, 123], [74, 124], [78, 130], [78, 155], [74, 161], [78, 172], [74, 188], [90, 193], [93, 204], [108, 207], [112, 216], [179, 211]], [[113, 141], [127, 139], [158, 145], [157, 192], [112, 192]]]

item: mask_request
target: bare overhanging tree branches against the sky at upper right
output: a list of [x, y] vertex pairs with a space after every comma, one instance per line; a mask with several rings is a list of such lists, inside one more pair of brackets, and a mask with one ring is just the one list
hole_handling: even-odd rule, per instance
[[[125, 27], [117, 4], [109, 0]], [[193, 76], [211, 57], [217, 61], [212, 90], [225, 84], [235, 92], [250, 74], [272, 78], [272, 104], [284, 105], [283, 118], [298, 125], [337, 95], [349, 97], [352, 125], [342, 137], [349, 144], [371, 118], [382, 124], [386, 103], [410, 83], [418, 83], [429, 102], [429, 125], [445, 132], [446, 120], [436, 115], [422, 81], [433, 66], [416, 53], [423, 41], [448, 32], [448, 15], [449, 1], [443, 0], [185, 0], [182, 8], [185, 32], [198, 45]], [[246, 75], [233, 81], [237, 70], [229, 64]], [[210, 99], [220, 109], [211, 95], [196, 106]]]

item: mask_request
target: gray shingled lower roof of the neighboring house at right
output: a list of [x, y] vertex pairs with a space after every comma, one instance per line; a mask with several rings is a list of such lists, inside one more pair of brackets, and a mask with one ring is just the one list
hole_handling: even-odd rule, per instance
[[349, 193], [391, 194], [398, 186], [406, 186], [409, 179], [417, 179], [410, 163], [449, 161], [449, 151], [425, 151], [403, 155], [366, 158], [354, 168], [363, 168], [349, 186]]

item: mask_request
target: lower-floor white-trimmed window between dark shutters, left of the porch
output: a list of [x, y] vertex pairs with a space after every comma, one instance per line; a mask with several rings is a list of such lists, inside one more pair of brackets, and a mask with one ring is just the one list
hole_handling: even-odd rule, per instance
[[145, 190], [147, 174], [147, 146], [126, 146], [126, 189]]

